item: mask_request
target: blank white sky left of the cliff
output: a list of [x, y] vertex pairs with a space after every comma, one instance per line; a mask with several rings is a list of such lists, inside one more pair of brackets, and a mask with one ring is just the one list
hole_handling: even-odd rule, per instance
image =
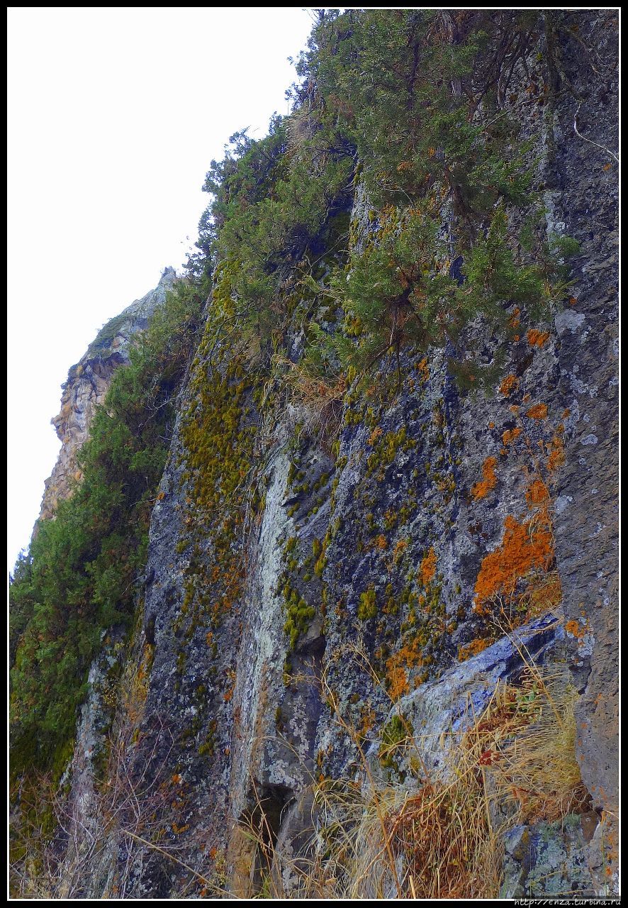
[[[60, 447], [61, 384], [105, 321], [179, 270], [213, 158], [266, 133], [304, 9], [8, 8], [8, 563]], [[187, 239], [189, 238], [189, 239]]]

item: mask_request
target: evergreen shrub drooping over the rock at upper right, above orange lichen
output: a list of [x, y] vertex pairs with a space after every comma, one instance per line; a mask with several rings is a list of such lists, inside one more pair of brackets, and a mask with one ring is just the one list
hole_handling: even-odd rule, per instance
[[329, 361], [368, 370], [388, 352], [398, 362], [404, 349], [447, 346], [477, 371], [466, 325], [481, 316], [507, 342], [509, 309], [536, 320], [564, 298], [577, 244], [545, 239], [535, 137], [524, 141], [505, 111], [543, 27], [541, 14], [514, 11], [320, 15], [300, 72], [355, 146], [370, 206], [329, 280], [345, 313], [343, 332], [315, 333]]

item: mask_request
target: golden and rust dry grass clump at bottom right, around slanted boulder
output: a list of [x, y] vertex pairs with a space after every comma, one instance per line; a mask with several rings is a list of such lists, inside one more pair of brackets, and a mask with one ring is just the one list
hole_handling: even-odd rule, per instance
[[520, 684], [497, 686], [481, 715], [469, 706], [466, 731], [449, 733], [438, 777], [427, 775], [421, 738], [408, 727], [386, 756], [387, 765], [396, 752], [399, 764], [405, 757], [408, 765], [409, 755], [412, 777], [393, 772], [383, 781], [323, 678], [361, 771], [354, 779], [313, 784], [308, 854], [292, 861], [267, 854], [263, 894], [294, 898], [293, 889], [282, 887], [288, 875], [299, 881], [299, 897], [498, 897], [505, 833], [515, 824], [586, 809], [587, 800], [574, 753], [574, 689], [564, 675], [522, 656], [527, 667]]

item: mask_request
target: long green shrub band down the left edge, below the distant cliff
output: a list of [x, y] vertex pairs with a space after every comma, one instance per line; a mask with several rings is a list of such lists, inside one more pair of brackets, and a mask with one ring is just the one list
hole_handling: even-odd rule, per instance
[[155, 312], [95, 413], [80, 452], [82, 481], [54, 519], [41, 522], [16, 565], [10, 587], [15, 774], [62, 768], [103, 631], [132, 617], [201, 301], [200, 289], [182, 282]]

